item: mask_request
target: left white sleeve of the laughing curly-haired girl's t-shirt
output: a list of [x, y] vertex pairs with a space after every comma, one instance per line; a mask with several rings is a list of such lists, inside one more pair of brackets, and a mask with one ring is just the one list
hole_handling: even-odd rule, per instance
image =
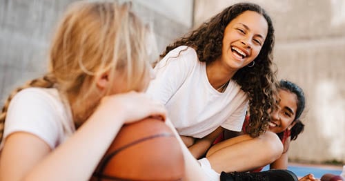
[[156, 77], [146, 93], [166, 104], [192, 72], [195, 59], [197, 54], [193, 48], [179, 46], [171, 50], [155, 67]]

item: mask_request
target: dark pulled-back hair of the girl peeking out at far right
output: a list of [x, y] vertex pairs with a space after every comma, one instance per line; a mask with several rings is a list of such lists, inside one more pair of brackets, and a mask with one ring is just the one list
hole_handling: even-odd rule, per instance
[[[304, 130], [304, 124], [299, 120], [301, 117], [304, 107], [306, 105], [306, 99], [304, 97], [304, 93], [302, 88], [294, 84], [293, 82], [287, 81], [287, 80], [281, 80], [279, 82], [279, 89], [286, 90], [289, 93], [293, 93], [297, 97], [297, 110], [296, 110], [296, 116], [293, 122], [296, 122], [295, 125], [291, 128], [291, 140], [296, 140], [299, 133], [302, 133]], [[279, 137], [282, 137], [283, 133], [278, 133]]]

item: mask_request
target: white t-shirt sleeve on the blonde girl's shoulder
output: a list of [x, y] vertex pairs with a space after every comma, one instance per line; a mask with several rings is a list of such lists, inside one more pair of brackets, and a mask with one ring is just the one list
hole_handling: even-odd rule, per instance
[[10, 102], [3, 139], [14, 132], [31, 133], [46, 142], [51, 149], [59, 140], [61, 125], [49, 95], [30, 88], [21, 90]]

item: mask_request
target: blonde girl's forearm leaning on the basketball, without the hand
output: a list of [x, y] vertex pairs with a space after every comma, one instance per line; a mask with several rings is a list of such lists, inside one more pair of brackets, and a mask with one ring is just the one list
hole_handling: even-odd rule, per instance
[[122, 124], [121, 117], [92, 115], [25, 180], [88, 180]]

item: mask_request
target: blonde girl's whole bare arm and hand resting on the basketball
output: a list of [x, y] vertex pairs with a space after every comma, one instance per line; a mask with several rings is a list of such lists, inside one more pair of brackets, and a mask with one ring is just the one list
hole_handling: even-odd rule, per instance
[[88, 180], [121, 126], [148, 115], [165, 118], [166, 110], [132, 92], [103, 98], [83, 126], [53, 151], [30, 133], [12, 133], [1, 153], [0, 180]]

